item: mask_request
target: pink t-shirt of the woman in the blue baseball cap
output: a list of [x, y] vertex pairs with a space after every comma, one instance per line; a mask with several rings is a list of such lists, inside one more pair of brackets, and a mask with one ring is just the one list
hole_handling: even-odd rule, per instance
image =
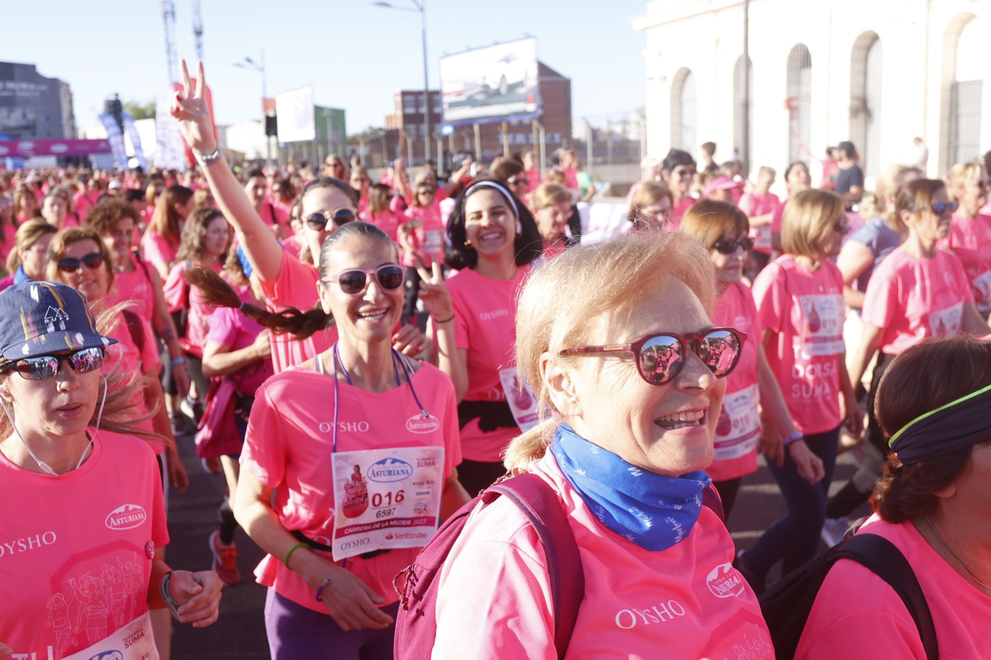
[[148, 610], [151, 551], [168, 543], [148, 443], [100, 431], [59, 477], [0, 453], [0, 501], [15, 504], [0, 525], [0, 639], [15, 658], [58, 660]]

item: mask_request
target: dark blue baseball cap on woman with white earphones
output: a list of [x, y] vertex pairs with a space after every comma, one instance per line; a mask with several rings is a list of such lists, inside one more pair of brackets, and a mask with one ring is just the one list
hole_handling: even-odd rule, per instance
[[25, 281], [0, 292], [0, 357], [21, 360], [59, 351], [104, 348], [86, 296], [55, 281]]

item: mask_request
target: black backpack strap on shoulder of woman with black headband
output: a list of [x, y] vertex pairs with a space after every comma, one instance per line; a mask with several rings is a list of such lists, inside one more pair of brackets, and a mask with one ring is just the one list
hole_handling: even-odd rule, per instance
[[915, 571], [905, 555], [888, 539], [862, 533], [843, 541], [834, 551], [833, 560], [850, 559], [884, 580], [905, 603], [919, 629], [928, 660], [938, 660], [936, 626], [933, 613], [919, 586]]

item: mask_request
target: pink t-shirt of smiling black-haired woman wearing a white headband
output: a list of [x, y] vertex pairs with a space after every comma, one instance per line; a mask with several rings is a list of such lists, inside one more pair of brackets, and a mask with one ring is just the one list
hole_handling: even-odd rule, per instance
[[[515, 277], [503, 281], [465, 269], [446, 282], [454, 306], [455, 341], [468, 351], [466, 401], [506, 400], [499, 372], [514, 369], [516, 296], [529, 272], [530, 267], [520, 267]], [[487, 433], [473, 419], [461, 429], [461, 451], [470, 461], [495, 463], [517, 435], [518, 426]]]

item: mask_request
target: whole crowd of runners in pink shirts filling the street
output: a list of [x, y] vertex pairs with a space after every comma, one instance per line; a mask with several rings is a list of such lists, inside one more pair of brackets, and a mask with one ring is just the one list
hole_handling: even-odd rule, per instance
[[239, 526], [275, 660], [991, 657], [991, 152], [672, 150], [590, 242], [570, 150], [232, 166], [182, 72], [195, 167], [0, 170], [0, 658], [168, 658]]

